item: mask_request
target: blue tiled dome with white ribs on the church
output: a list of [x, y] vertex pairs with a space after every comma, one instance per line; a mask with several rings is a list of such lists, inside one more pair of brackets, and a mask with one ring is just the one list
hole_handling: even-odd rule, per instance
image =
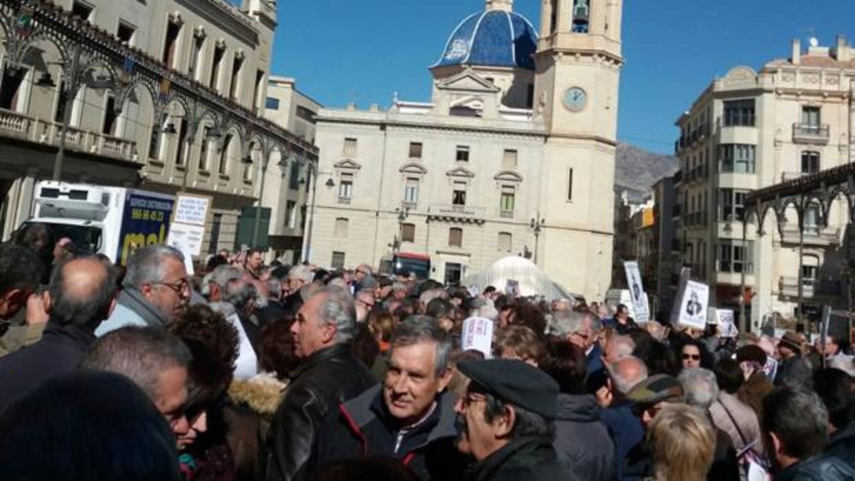
[[482, 65], [534, 70], [537, 33], [526, 17], [503, 10], [469, 15], [451, 33], [433, 67]]

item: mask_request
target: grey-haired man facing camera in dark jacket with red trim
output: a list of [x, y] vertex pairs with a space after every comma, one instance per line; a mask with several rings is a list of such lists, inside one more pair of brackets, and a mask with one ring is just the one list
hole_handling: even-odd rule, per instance
[[318, 435], [307, 466], [363, 455], [391, 456], [422, 480], [454, 480], [463, 457], [454, 440], [454, 401], [445, 392], [451, 380], [451, 339], [436, 320], [410, 316], [392, 337], [383, 384], [341, 404], [339, 416]]

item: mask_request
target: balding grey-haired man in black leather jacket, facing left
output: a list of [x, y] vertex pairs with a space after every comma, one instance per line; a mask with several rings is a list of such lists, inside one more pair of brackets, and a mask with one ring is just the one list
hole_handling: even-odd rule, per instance
[[268, 480], [294, 479], [309, 460], [321, 421], [376, 382], [351, 350], [355, 318], [353, 298], [337, 287], [318, 290], [298, 311], [291, 333], [300, 364], [268, 431]]

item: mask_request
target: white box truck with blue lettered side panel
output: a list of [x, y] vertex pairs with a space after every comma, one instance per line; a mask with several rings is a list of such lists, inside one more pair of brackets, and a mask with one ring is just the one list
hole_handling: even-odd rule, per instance
[[32, 218], [56, 239], [107, 255], [125, 265], [134, 249], [166, 242], [175, 197], [126, 187], [43, 181], [36, 185]]

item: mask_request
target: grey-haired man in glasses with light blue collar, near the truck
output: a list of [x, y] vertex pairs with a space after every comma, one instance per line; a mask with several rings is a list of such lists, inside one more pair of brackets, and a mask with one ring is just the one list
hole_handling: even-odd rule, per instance
[[184, 255], [168, 245], [152, 244], [134, 252], [123, 285], [113, 314], [98, 326], [96, 336], [122, 326], [166, 326], [190, 300]]

